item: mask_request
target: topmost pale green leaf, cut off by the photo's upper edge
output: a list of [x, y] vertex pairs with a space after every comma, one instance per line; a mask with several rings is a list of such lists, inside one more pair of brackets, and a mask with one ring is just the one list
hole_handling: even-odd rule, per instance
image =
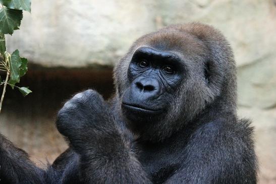
[[25, 10], [31, 13], [31, 0], [0, 0], [0, 3], [10, 9]]

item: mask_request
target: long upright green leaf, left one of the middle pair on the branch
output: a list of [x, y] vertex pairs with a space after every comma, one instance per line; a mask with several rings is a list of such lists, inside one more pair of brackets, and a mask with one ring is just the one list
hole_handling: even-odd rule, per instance
[[[20, 81], [20, 66], [21, 66], [21, 59], [19, 56], [19, 51], [16, 49], [12, 55], [11, 60], [9, 61], [10, 65], [10, 80], [8, 81], [9, 84], [15, 85]], [[14, 89], [14, 86], [11, 86]]]

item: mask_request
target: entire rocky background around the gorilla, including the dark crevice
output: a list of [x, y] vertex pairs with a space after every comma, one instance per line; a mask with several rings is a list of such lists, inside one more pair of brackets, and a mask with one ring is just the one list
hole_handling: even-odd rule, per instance
[[238, 113], [255, 127], [259, 183], [276, 183], [276, 1], [106, 0], [32, 1], [21, 30], [8, 37], [30, 60], [22, 85], [9, 90], [0, 132], [50, 162], [66, 149], [54, 116], [73, 93], [92, 87], [113, 92], [112, 67], [139, 36], [174, 23], [198, 21], [221, 30], [238, 66]]

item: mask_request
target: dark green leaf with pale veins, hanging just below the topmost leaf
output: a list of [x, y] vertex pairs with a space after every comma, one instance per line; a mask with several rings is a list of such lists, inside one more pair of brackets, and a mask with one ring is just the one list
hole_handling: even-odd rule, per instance
[[22, 18], [22, 10], [0, 9], [0, 33], [12, 35], [14, 30], [19, 29]]

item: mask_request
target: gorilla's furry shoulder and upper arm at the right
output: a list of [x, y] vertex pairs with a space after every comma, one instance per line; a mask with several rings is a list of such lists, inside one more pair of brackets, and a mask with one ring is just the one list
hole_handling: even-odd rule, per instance
[[256, 183], [251, 136], [245, 119], [203, 125], [185, 148], [181, 168], [165, 183]]

